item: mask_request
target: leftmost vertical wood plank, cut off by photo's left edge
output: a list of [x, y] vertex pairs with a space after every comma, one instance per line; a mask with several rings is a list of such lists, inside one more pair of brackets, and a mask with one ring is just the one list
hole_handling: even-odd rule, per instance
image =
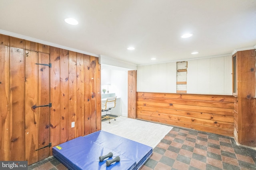
[[10, 152], [10, 53], [9, 37], [0, 34], [0, 160], [9, 160]]

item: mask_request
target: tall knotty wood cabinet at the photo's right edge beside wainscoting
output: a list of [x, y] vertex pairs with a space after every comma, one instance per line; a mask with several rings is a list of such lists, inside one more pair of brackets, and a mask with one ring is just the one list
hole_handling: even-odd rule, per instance
[[238, 51], [233, 56], [234, 139], [256, 147], [255, 50]]

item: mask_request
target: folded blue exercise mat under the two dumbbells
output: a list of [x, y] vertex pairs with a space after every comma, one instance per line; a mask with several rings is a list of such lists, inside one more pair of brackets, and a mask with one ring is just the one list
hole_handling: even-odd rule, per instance
[[[99, 156], [113, 153], [120, 162], [106, 166], [106, 158]], [[137, 170], [152, 154], [152, 147], [108, 133], [97, 131], [62, 143], [52, 148], [52, 154], [70, 170]]]

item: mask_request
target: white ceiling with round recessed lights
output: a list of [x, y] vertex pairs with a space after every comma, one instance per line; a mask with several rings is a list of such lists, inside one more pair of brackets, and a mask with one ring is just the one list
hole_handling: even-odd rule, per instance
[[256, 45], [256, 0], [0, 0], [0, 12], [2, 31], [138, 65]]

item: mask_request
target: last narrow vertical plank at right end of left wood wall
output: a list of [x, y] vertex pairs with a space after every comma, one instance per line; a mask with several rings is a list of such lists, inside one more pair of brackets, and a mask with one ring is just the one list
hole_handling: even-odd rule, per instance
[[96, 131], [101, 130], [101, 66], [99, 58], [96, 57]]

